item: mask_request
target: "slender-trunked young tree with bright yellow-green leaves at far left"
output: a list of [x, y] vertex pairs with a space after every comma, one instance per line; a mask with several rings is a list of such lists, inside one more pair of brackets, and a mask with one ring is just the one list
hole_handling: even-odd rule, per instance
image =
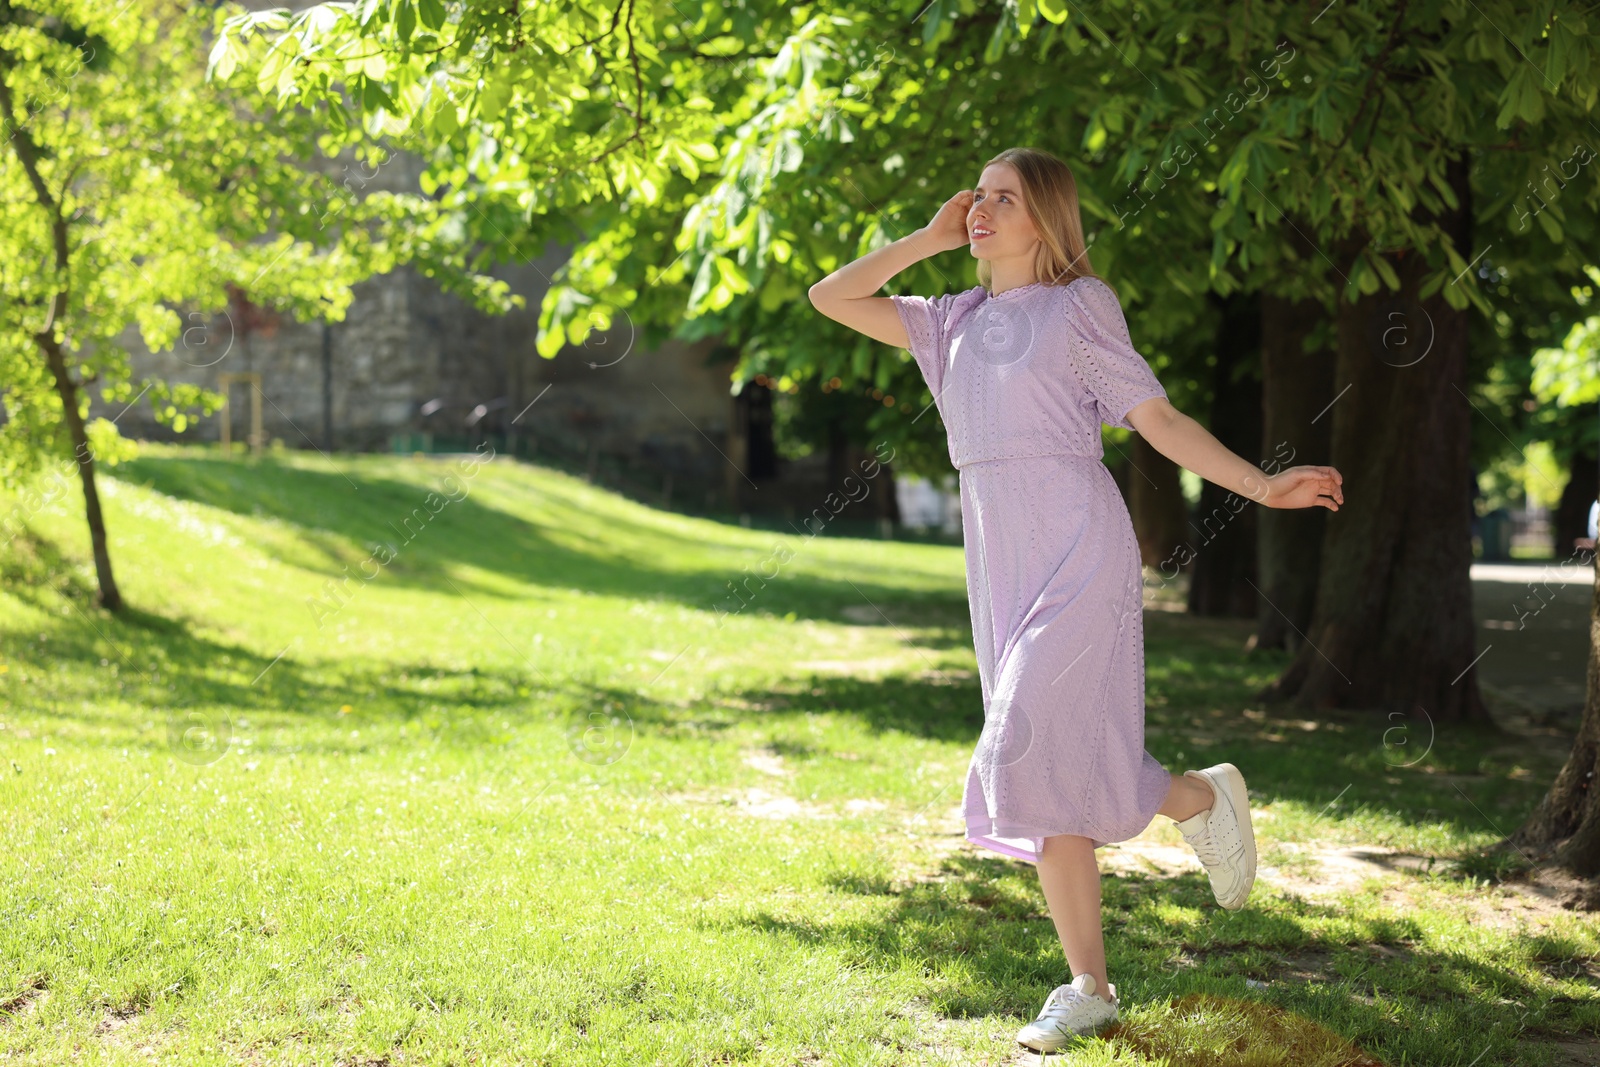
[[[221, 397], [131, 381], [120, 342], [150, 350], [197, 333], [238, 286], [261, 306], [341, 318], [350, 285], [405, 261], [504, 309], [504, 283], [469, 272], [422, 197], [354, 200], [294, 163], [320, 123], [258, 117], [205, 85], [206, 21], [176, 0], [0, 3], [0, 477], [53, 458], [82, 485], [99, 601], [122, 606], [98, 464], [131, 454], [109, 403], [147, 400], [182, 432]], [[448, 235], [446, 235], [448, 237]], [[126, 408], [123, 408], [126, 410]], [[11, 515], [8, 526], [26, 522]]]

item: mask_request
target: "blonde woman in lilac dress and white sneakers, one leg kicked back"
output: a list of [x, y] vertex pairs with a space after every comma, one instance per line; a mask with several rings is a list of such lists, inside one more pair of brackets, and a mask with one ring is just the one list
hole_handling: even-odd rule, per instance
[[[874, 296], [914, 262], [968, 246], [976, 288]], [[1245, 779], [1168, 773], [1144, 750], [1142, 576], [1133, 522], [1101, 462], [1101, 422], [1267, 507], [1344, 502], [1333, 467], [1264, 475], [1166, 400], [1115, 293], [1094, 277], [1059, 158], [1008, 149], [923, 229], [811, 286], [811, 304], [910, 349], [960, 472], [966, 592], [984, 729], [962, 809], [974, 843], [1037, 864], [1075, 977], [1018, 1040], [1061, 1048], [1117, 1019], [1094, 849], [1178, 822], [1218, 904], [1256, 877]]]

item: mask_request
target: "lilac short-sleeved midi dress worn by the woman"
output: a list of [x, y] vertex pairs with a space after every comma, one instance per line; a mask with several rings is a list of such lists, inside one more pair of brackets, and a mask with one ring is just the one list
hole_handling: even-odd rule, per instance
[[966, 838], [1037, 864], [1056, 833], [1138, 837], [1171, 779], [1144, 750], [1139, 547], [1101, 422], [1166, 390], [1099, 278], [890, 299], [960, 472], [984, 699]]

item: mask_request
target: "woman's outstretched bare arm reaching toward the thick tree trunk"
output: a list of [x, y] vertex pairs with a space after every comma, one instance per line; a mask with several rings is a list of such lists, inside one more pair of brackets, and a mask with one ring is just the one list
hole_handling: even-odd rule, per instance
[[1344, 504], [1344, 475], [1333, 467], [1290, 467], [1267, 475], [1211, 437], [1210, 430], [1174, 408], [1165, 397], [1152, 397], [1128, 413], [1150, 448], [1179, 467], [1232, 490], [1266, 507], [1326, 507]]

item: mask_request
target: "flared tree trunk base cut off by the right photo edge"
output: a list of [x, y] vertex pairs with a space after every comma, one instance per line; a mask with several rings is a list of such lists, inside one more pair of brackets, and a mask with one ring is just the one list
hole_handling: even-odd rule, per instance
[[[1595, 488], [1590, 482], [1589, 490]], [[1510, 845], [1538, 862], [1554, 861], [1584, 877], [1600, 875], [1600, 571], [1589, 598], [1589, 686], [1573, 753], [1550, 792], [1510, 835]]]

